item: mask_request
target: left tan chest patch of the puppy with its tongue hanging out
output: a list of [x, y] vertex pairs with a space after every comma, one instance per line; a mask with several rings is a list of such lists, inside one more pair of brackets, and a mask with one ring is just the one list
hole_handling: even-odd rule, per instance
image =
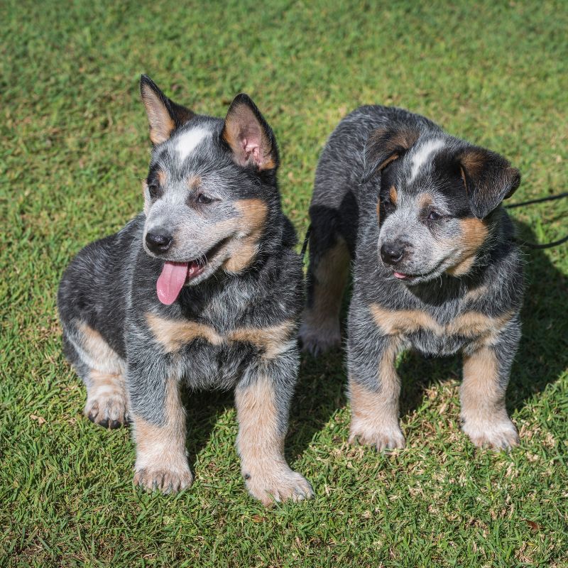
[[204, 339], [214, 345], [220, 345], [223, 338], [212, 327], [190, 320], [167, 320], [151, 312], [146, 313], [146, 321], [156, 341], [166, 353], [173, 353], [194, 341]]

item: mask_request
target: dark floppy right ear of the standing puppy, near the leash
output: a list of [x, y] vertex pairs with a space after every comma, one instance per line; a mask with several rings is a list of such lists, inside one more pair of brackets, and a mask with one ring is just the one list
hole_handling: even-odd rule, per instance
[[483, 219], [520, 184], [520, 172], [498, 153], [472, 146], [458, 156], [471, 211]]

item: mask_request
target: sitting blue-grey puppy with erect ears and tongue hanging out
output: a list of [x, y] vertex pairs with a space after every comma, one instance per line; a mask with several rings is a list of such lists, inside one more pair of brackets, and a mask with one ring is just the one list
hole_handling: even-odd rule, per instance
[[131, 422], [134, 483], [175, 492], [192, 483], [180, 388], [234, 388], [251, 495], [310, 498], [284, 457], [304, 288], [273, 131], [246, 94], [225, 119], [176, 104], [146, 76], [141, 96], [153, 143], [144, 213], [83, 249], [58, 293], [85, 414]]

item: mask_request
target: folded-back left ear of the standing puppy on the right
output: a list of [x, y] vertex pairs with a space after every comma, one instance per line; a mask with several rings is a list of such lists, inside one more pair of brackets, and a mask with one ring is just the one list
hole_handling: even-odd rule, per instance
[[365, 170], [363, 182], [397, 160], [410, 149], [420, 131], [408, 126], [381, 126], [371, 132], [365, 144]]

